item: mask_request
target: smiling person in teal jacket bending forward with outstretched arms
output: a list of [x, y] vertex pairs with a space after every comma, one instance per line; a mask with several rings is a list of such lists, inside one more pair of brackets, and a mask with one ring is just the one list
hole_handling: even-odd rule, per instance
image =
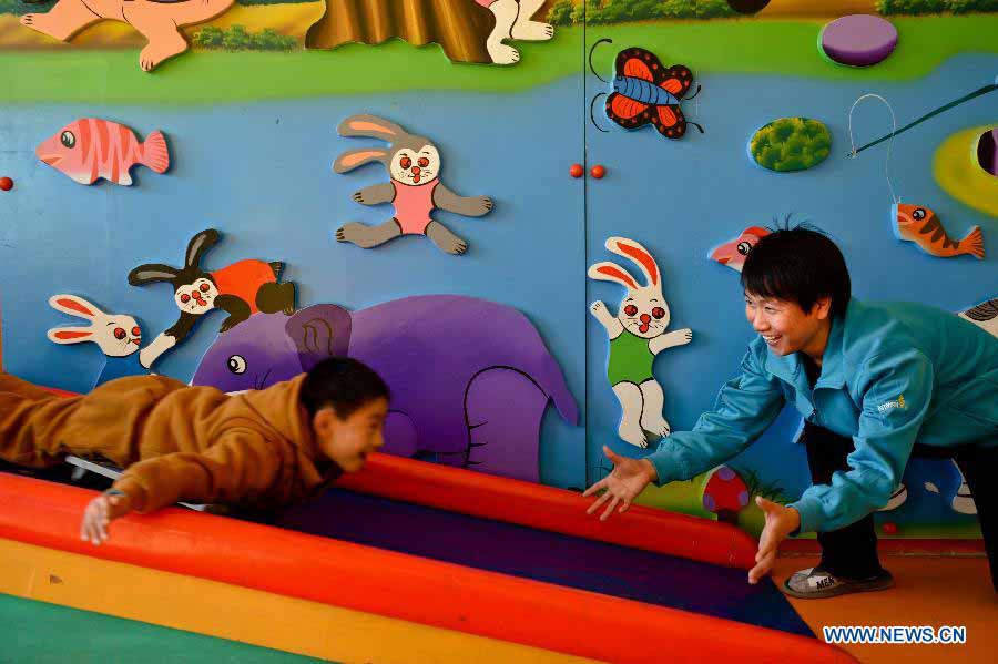
[[977, 505], [998, 590], [998, 339], [931, 307], [851, 297], [838, 247], [804, 227], [764, 237], [742, 272], [745, 315], [758, 333], [740, 375], [692, 431], [641, 459], [604, 452], [613, 471], [585, 492], [602, 518], [624, 511], [649, 483], [689, 480], [752, 445], [785, 403], [804, 417], [813, 486], [766, 513], [751, 583], [768, 573], [788, 534], [817, 532], [822, 562], [793, 574], [800, 597], [893, 584], [877, 558], [872, 513], [913, 456], [953, 458]]

